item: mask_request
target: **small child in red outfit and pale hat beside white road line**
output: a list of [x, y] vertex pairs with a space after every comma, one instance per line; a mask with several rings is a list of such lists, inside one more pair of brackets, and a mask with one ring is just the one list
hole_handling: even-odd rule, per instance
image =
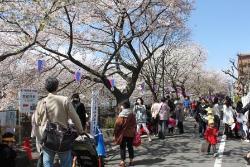
[[214, 156], [217, 156], [216, 153], [216, 144], [217, 144], [217, 136], [218, 136], [218, 129], [214, 127], [214, 120], [208, 120], [208, 127], [205, 131], [205, 139], [209, 143], [207, 153], [210, 154], [210, 148], [212, 146]]

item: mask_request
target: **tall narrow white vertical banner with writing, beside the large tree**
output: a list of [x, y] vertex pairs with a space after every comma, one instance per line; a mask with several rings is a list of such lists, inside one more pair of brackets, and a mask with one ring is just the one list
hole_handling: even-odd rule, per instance
[[92, 91], [91, 114], [90, 114], [90, 134], [95, 136], [98, 125], [98, 96], [99, 91]]

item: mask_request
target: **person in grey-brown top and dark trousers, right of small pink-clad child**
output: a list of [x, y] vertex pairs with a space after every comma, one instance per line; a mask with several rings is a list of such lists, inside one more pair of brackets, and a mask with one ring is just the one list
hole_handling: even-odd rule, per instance
[[177, 121], [177, 127], [179, 129], [179, 134], [184, 133], [184, 128], [183, 128], [183, 121], [184, 121], [184, 110], [183, 110], [183, 104], [178, 101], [176, 102], [177, 106], [175, 108], [175, 116], [176, 116], [176, 121]]

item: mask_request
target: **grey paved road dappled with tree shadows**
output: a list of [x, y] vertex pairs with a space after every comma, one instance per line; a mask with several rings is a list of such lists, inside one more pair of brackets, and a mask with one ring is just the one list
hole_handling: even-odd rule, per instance
[[[143, 144], [135, 148], [135, 165], [138, 167], [245, 167], [243, 155], [250, 150], [250, 143], [240, 140], [226, 140], [222, 157], [216, 158], [211, 155], [201, 154], [199, 151], [204, 141], [198, 137], [197, 130], [193, 128], [193, 120], [184, 122], [185, 132], [183, 135], [167, 136], [165, 140], [153, 138], [149, 143], [146, 138]], [[220, 143], [217, 145], [219, 148]], [[107, 157], [107, 165], [118, 166], [120, 162], [119, 147], [112, 150]], [[215, 165], [222, 158], [222, 164]], [[128, 161], [128, 160], [127, 160]]]

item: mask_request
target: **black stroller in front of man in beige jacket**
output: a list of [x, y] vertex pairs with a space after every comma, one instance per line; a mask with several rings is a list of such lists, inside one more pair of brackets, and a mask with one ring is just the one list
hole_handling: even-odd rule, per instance
[[73, 166], [75, 167], [98, 167], [100, 166], [96, 152], [95, 140], [85, 134], [78, 136], [73, 143]]

